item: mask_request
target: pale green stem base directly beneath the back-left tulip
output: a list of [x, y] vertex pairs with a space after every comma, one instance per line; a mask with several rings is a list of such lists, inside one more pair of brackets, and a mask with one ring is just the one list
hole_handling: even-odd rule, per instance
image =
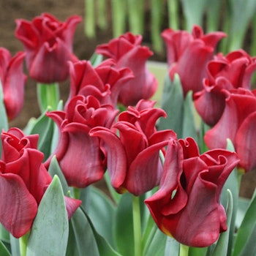
[[49, 106], [56, 110], [59, 103], [59, 83], [37, 83], [37, 100], [41, 113]]

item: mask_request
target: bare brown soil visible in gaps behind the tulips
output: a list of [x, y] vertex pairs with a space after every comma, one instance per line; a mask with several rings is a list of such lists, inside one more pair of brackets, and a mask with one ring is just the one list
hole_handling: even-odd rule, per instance
[[[66, 20], [70, 15], [84, 15], [84, 0], [0, 0], [0, 47], [10, 50], [12, 55], [17, 51], [23, 50], [23, 45], [15, 38], [15, 19], [24, 18], [32, 20], [35, 16], [42, 12], [49, 12], [55, 15], [59, 20]], [[110, 12], [108, 12], [110, 13]], [[109, 20], [111, 23], [111, 20]], [[143, 35], [144, 45], [151, 47], [147, 41], [147, 33]], [[97, 29], [97, 37], [94, 39], [86, 38], [83, 29], [83, 22], [77, 27], [74, 39], [74, 52], [79, 59], [89, 59], [94, 53], [96, 45], [108, 42], [112, 38], [112, 31], [108, 29], [102, 31]], [[154, 54], [151, 58], [156, 61], [165, 61], [163, 55]], [[67, 99], [69, 90], [69, 81], [61, 84], [61, 98]], [[39, 116], [39, 108], [37, 106], [36, 82], [30, 78], [26, 83], [26, 98], [23, 111], [10, 123], [10, 127], [19, 127], [23, 129], [29, 118]], [[99, 186], [102, 182], [99, 182]], [[246, 173], [242, 178], [241, 196], [251, 197], [256, 187], [256, 172]]]

